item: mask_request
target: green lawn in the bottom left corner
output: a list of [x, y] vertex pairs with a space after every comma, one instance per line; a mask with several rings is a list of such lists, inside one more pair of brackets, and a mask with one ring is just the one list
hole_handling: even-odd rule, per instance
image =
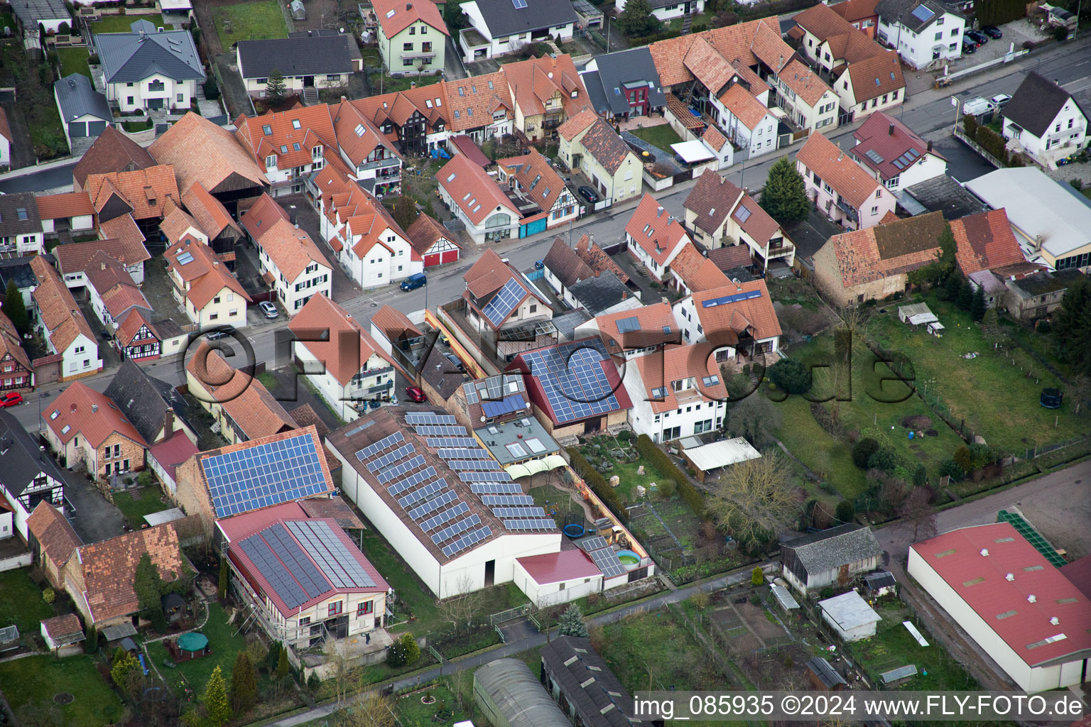
[[121, 699], [95, 668], [91, 656], [80, 654], [58, 661], [52, 655], [28, 656], [0, 664], [4, 696], [17, 711], [27, 703], [53, 703], [68, 692], [75, 699], [60, 706], [65, 727], [99, 727], [121, 715]]

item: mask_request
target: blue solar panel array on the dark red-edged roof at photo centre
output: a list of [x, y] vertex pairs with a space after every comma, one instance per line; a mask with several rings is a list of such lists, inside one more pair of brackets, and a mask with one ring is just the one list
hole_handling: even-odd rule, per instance
[[530, 374], [542, 385], [554, 419], [562, 424], [621, 409], [602, 368], [607, 358], [598, 339], [523, 354]]

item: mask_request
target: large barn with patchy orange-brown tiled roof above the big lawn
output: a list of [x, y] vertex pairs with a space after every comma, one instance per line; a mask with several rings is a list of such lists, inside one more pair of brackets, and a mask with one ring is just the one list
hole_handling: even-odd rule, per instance
[[906, 292], [908, 274], [939, 255], [945, 225], [928, 213], [832, 237], [814, 255], [815, 287], [838, 306]]

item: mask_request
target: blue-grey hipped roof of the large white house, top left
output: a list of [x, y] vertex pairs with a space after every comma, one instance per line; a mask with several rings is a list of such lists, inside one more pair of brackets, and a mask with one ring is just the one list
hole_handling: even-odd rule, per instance
[[136, 21], [130, 26], [135, 28], [132, 33], [94, 35], [106, 83], [135, 83], [155, 73], [175, 81], [204, 80], [193, 36], [188, 31], [147, 33], [149, 25]]

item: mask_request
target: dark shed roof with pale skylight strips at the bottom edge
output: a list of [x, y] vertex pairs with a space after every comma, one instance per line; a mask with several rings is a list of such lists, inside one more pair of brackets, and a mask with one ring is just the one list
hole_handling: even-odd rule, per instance
[[[564, 696], [576, 705], [580, 717], [578, 724], [631, 727], [627, 715], [634, 713], [633, 696], [589, 640], [558, 637], [542, 646], [541, 657], [546, 671], [561, 686]], [[582, 686], [585, 683], [586, 687]]]

